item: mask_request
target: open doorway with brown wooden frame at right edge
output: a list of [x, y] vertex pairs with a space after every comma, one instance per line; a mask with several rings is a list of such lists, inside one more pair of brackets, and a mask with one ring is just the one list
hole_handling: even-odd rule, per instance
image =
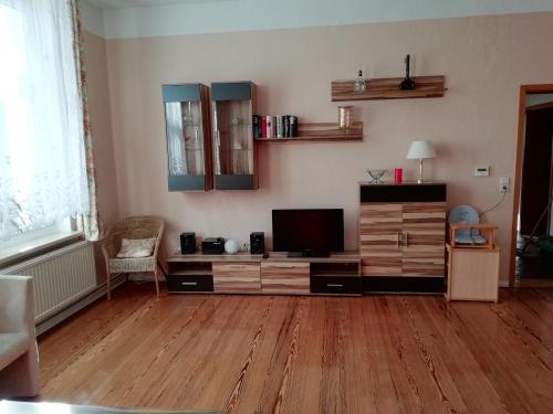
[[523, 85], [512, 223], [510, 286], [553, 287], [553, 85]]

